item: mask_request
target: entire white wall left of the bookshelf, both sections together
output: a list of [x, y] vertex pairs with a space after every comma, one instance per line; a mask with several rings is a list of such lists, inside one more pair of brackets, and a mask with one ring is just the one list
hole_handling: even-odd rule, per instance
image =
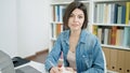
[[0, 0], [0, 49], [28, 57], [48, 48], [50, 13], [50, 0]]

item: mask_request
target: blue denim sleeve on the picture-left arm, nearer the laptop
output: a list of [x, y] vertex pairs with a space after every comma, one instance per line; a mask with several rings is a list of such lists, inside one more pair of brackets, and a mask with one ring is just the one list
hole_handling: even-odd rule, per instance
[[57, 60], [61, 56], [61, 34], [57, 38], [57, 40], [54, 43], [54, 46], [52, 48], [52, 50], [49, 53], [48, 57], [46, 58], [46, 70], [49, 71], [52, 67], [56, 67], [57, 65]]

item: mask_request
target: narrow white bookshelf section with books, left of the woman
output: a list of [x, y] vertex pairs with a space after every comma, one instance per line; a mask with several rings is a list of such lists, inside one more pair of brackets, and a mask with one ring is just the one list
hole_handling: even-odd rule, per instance
[[51, 24], [50, 24], [50, 47], [49, 47], [49, 52], [51, 52], [54, 42], [56, 41], [57, 35], [60, 34], [60, 32], [62, 32], [64, 30], [63, 27], [63, 14], [65, 11], [65, 8], [67, 6], [67, 4], [69, 4], [73, 0], [69, 1], [54, 1], [52, 0], [51, 3], [51, 10], [52, 10], [52, 19], [51, 19]]

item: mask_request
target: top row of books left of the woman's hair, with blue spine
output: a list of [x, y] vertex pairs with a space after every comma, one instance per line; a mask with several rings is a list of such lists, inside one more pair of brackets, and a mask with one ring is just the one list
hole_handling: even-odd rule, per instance
[[63, 21], [66, 5], [53, 5], [53, 21]]

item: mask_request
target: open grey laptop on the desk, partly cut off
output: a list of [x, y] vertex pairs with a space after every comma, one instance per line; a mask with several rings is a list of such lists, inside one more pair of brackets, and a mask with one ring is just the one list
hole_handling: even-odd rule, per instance
[[14, 69], [12, 59], [8, 54], [0, 50], [0, 73], [41, 73], [30, 65]]

